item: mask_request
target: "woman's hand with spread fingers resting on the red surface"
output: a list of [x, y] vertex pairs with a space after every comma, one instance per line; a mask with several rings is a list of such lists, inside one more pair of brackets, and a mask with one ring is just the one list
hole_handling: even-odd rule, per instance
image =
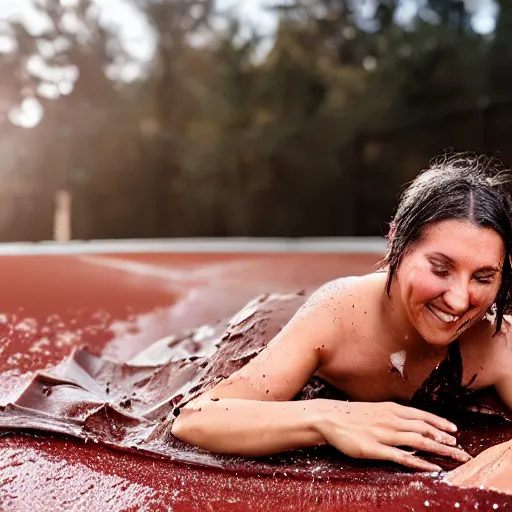
[[456, 448], [448, 432], [457, 427], [434, 414], [393, 402], [319, 401], [316, 428], [325, 440], [350, 457], [390, 460], [410, 468], [441, 471], [439, 466], [397, 446], [432, 452], [467, 462], [471, 457]]

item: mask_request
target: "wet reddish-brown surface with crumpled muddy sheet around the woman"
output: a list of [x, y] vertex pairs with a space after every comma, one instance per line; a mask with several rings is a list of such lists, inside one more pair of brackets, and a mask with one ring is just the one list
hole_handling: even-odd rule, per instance
[[[450, 487], [438, 477], [349, 460], [332, 450], [249, 462], [187, 449], [169, 435], [167, 418], [176, 407], [245, 364], [282, 326], [304, 300], [292, 292], [367, 272], [377, 259], [340, 254], [3, 257], [0, 268], [9, 293], [0, 299], [1, 403], [15, 405], [4, 409], [0, 423], [81, 439], [18, 430], [0, 438], [2, 509], [33, 510], [35, 503], [41, 510], [510, 507], [511, 496], [478, 485]], [[268, 292], [287, 295], [262, 297], [231, 318], [248, 300]], [[218, 323], [223, 318], [231, 321]], [[205, 323], [211, 327], [169, 338], [134, 358], [163, 336]], [[243, 350], [233, 350], [241, 339]], [[89, 350], [77, 349], [83, 345]], [[133, 364], [98, 358], [100, 352]], [[173, 362], [162, 364], [169, 357]], [[302, 398], [332, 392], [317, 382], [306, 391]], [[468, 413], [458, 423], [459, 442], [472, 455], [512, 437], [509, 423], [498, 415]], [[503, 473], [502, 452], [491, 454], [484, 468], [494, 480], [497, 455]], [[452, 479], [457, 484], [482, 481], [481, 467], [471, 475], [457, 471]], [[506, 472], [499, 478], [485, 483], [503, 488]]]

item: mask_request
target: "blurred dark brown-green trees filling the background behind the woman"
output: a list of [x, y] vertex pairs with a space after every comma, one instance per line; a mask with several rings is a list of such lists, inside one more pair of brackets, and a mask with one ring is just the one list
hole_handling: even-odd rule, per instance
[[2, 20], [0, 241], [51, 239], [59, 190], [78, 239], [381, 235], [445, 148], [512, 160], [512, 2], [482, 34], [478, 0], [268, 0], [270, 35], [214, 0], [125, 3], [143, 65], [95, 0]]

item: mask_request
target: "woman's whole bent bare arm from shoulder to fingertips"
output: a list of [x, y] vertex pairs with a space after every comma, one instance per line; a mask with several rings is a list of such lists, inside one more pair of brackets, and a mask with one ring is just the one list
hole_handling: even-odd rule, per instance
[[467, 454], [432, 414], [393, 403], [290, 402], [343, 341], [342, 304], [350, 281], [318, 290], [257, 357], [185, 406], [172, 433], [212, 452], [259, 456], [331, 444], [353, 457], [439, 470], [396, 446], [454, 457]]

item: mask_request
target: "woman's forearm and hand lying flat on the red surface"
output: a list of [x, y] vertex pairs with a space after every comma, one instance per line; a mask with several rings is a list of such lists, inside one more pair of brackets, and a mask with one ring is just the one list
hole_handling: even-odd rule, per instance
[[185, 442], [217, 453], [258, 457], [331, 444], [351, 457], [440, 471], [439, 466], [396, 446], [411, 446], [467, 462], [469, 455], [455, 448], [455, 438], [447, 433], [455, 430], [443, 418], [392, 402], [213, 398], [209, 403], [186, 406], [172, 431]]

